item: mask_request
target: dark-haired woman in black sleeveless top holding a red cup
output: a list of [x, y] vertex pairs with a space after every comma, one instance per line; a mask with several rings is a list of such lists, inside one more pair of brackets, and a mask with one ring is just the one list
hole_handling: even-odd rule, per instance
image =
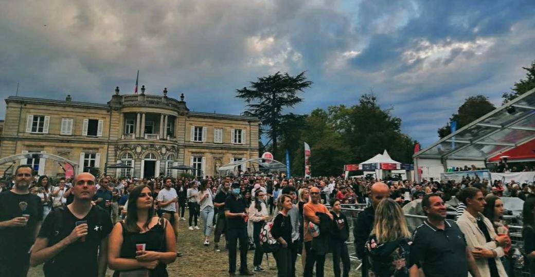
[[126, 218], [110, 234], [108, 265], [115, 271], [113, 276], [168, 276], [166, 265], [177, 258], [173, 227], [155, 216], [154, 198], [147, 185], [132, 189], [128, 203]]

